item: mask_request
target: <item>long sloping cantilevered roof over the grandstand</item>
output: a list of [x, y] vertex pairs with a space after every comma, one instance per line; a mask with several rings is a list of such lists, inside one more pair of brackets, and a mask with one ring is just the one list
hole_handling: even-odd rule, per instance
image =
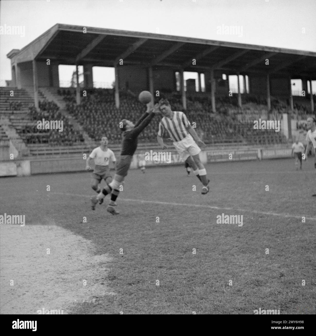
[[7, 57], [17, 63], [49, 58], [60, 64], [104, 67], [113, 67], [122, 58], [125, 65], [184, 71], [213, 68], [226, 74], [269, 72], [316, 80], [316, 53], [311, 51], [94, 27], [85, 27], [83, 33], [83, 28], [56, 24]]

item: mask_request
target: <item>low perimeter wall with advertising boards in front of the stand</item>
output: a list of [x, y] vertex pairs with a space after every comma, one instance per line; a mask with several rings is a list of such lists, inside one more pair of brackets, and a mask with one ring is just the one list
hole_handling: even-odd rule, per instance
[[[159, 148], [137, 151], [133, 157], [131, 169], [138, 168], [138, 162], [141, 160], [141, 155], [146, 155], [146, 153], [148, 153], [149, 157], [151, 154], [151, 158], [153, 159], [152, 161], [146, 161], [146, 167], [183, 164], [182, 158], [174, 149], [170, 151], [170, 156], [166, 155], [164, 158], [165, 161], [155, 161], [155, 153], [158, 154], [159, 152], [162, 152]], [[114, 153], [116, 157], [119, 156], [119, 152], [116, 151]], [[231, 159], [230, 154], [232, 154]], [[200, 154], [203, 163], [290, 157], [291, 148], [287, 145], [270, 148], [260, 148], [258, 146], [226, 146], [225, 148], [218, 149], [209, 148], [203, 150]], [[77, 172], [84, 170], [85, 161], [82, 156], [70, 158], [52, 157], [0, 163], [0, 176], [29, 176], [35, 174]]]

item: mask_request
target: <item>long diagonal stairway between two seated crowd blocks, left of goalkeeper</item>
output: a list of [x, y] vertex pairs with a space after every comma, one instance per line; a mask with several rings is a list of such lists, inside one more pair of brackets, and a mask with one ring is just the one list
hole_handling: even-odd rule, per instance
[[39, 92], [50, 101], [53, 101], [58, 107], [59, 111], [68, 118], [69, 122], [72, 124], [75, 130], [80, 131], [84, 138], [85, 144], [90, 147], [94, 145], [94, 141], [90, 138], [90, 136], [83, 130], [82, 126], [77, 122], [77, 120], [68, 113], [66, 109], [66, 102], [63, 100], [62, 96], [57, 94], [58, 88], [50, 88], [50, 87], [41, 87], [39, 88]]

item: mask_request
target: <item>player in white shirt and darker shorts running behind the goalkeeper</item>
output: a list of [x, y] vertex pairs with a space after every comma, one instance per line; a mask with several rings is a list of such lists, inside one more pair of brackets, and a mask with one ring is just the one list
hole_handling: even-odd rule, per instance
[[[92, 168], [90, 167], [90, 160], [94, 160], [95, 167], [93, 171], [91, 187], [98, 194], [101, 191], [100, 183], [102, 179], [104, 179], [106, 184], [109, 184], [112, 181], [112, 176], [109, 170], [110, 160], [113, 162], [114, 165], [116, 163], [116, 158], [113, 151], [111, 151], [107, 147], [108, 143], [108, 138], [106, 136], [103, 136], [101, 138], [101, 145], [91, 152], [91, 154], [87, 158], [85, 167], [86, 170], [92, 170]], [[100, 204], [102, 204], [102, 202], [103, 200], [100, 200]]]

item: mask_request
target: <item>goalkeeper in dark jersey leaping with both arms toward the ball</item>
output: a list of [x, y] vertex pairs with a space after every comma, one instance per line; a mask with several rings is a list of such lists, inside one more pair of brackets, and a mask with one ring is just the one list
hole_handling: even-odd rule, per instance
[[133, 155], [137, 149], [137, 137], [141, 131], [150, 123], [150, 120], [158, 114], [159, 109], [154, 109], [151, 102], [147, 104], [147, 111], [140, 117], [134, 125], [130, 120], [123, 119], [120, 122], [120, 129], [124, 132], [122, 137], [122, 150], [118, 159], [113, 181], [106, 185], [101, 193], [96, 197], [91, 198], [92, 209], [95, 209], [96, 204], [103, 199], [107, 194], [111, 194], [111, 201], [106, 208], [112, 215], [118, 215], [115, 210], [116, 198], [119, 194], [119, 187], [124, 183], [124, 179], [130, 168]]

